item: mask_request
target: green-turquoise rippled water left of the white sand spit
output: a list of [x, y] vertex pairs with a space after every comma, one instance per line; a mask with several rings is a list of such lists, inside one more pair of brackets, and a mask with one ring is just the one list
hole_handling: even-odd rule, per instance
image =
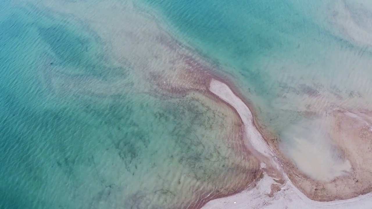
[[135, 89], [74, 18], [3, 10], [0, 208], [186, 208], [250, 178], [219, 128], [231, 112]]

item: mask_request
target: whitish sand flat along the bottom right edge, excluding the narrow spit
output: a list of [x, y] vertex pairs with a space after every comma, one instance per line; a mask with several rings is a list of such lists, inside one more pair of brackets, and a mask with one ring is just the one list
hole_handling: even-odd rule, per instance
[[265, 176], [256, 188], [230, 197], [212, 200], [203, 209], [370, 209], [372, 204], [371, 194], [349, 200], [317, 202], [308, 199], [290, 183], [287, 183], [285, 189], [269, 197], [266, 192], [269, 191], [271, 183], [272, 179]]

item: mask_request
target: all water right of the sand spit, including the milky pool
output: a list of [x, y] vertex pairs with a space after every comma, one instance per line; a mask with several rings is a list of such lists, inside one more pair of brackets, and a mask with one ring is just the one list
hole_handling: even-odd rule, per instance
[[[255, 106], [258, 120], [278, 134], [282, 151], [302, 153], [288, 157], [309, 176], [322, 175], [316, 166], [341, 163], [340, 171], [331, 169], [331, 178], [349, 170], [347, 162], [331, 157], [339, 154], [323, 137], [329, 130], [316, 127], [323, 122], [317, 115], [370, 109], [368, 1], [146, 2], [199, 53], [224, 66]], [[304, 119], [313, 125], [304, 127]], [[300, 160], [311, 156], [330, 161]]]

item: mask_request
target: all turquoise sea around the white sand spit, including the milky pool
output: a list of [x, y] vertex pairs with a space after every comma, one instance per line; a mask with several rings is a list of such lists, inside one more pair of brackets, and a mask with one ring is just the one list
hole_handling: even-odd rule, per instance
[[[0, 208], [198, 208], [247, 187], [259, 162], [234, 134], [240, 120], [203, 96], [202, 78], [177, 77], [185, 60], [228, 75], [311, 177], [350, 169], [304, 118], [371, 104], [369, 13], [332, 16], [357, 3], [0, 4]], [[303, 160], [314, 155], [329, 161]]]

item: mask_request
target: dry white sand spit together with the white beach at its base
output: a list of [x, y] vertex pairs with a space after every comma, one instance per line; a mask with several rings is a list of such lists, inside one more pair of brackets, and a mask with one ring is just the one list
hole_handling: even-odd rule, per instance
[[[229, 103], [237, 110], [248, 135], [249, 143], [254, 149], [269, 157], [272, 156], [273, 161], [275, 155], [264, 142], [262, 135], [253, 125], [253, 116], [249, 108], [244, 102], [239, 99], [231, 89], [221, 81], [212, 80], [209, 90], [216, 96]], [[275, 162], [273, 162], [275, 163]], [[277, 163], [275, 163], [278, 165]], [[280, 167], [278, 167], [280, 169]], [[281, 169], [280, 169], [281, 170]], [[230, 197], [215, 199], [208, 202], [202, 209], [371, 209], [372, 194], [361, 195], [348, 200], [337, 200], [332, 202], [317, 202], [308, 199], [302, 194], [288, 179], [282, 190], [275, 193], [273, 197], [269, 197], [270, 186], [275, 183], [273, 179], [265, 175], [257, 184], [257, 187], [251, 190], [245, 190], [241, 193]]]

